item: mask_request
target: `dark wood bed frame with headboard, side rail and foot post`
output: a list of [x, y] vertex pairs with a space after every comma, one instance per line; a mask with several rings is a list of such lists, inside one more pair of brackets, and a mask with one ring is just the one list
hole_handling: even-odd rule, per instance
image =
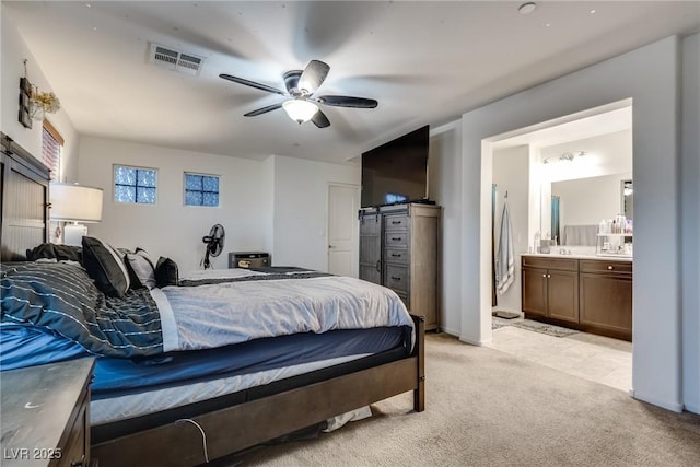
[[[48, 170], [5, 135], [2, 139], [2, 261], [22, 260], [48, 238]], [[425, 407], [425, 319], [412, 316], [416, 346], [404, 359], [332, 377], [260, 399], [191, 417], [207, 434], [217, 459], [334, 416], [413, 392], [413, 410]], [[202, 436], [189, 422], [175, 422], [93, 445], [101, 467], [194, 466], [206, 462]], [[330, 462], [330, 459], [329, 459]]]

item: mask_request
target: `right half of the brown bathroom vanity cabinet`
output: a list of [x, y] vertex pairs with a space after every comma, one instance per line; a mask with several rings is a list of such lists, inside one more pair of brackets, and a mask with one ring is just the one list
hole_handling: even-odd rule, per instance
[[579, 262], [580, 323], [603, 328], [611, 337], [632, 340], [632, 264]]

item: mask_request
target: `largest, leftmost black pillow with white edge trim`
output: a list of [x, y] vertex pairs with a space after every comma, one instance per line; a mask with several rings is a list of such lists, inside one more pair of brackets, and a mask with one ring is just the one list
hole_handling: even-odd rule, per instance
[[83, 236], [83, 267], [106, 295], [121, 299], [129, 290], [129, 272], [121, 256], [100, 238]]

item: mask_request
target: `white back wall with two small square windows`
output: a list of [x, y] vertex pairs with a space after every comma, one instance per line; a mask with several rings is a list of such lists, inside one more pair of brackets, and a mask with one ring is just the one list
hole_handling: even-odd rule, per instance
[[[115, 202], [114, 164], [156, 168], [156, 203]], [[116, 247], [171, 257], [180, 272], [201, 269], [201, 238], [215, 223], [224, 226], [226, 238], [224, 252], [212, 258], [214, 268], [228, 267], [229, 252], [272, 247], [272, 179], [266, 162], [83, 137], [79, 167], [82, 185], [104, 189], [103, 221], [90, 224], [89, 234]], [[220, 206], [184, 206], [184, 172], [220, 175]]]

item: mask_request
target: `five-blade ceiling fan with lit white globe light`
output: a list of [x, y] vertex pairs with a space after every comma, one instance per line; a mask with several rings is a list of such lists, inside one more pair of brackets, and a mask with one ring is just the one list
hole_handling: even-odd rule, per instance
[[306, 68], [302, 70], [291, 70], [283, 74], [287, 92], [280, 91], [267, 84], [256, 83], [255, 81], [245, 80], [243, 78], [232, 77], [231, 74], [219, 74], [224, 80], [234, 83], [245, 84], [261, 91], [280, 94], [289, 97], [278, 104], [268, 105], [245, 114], [245, 117], [255, 117], [266, 114], [270, 110], [283, 108], [289, 117], [300, 125], [305, 121], [313, 121], [318, 128], [330, 126], [328, 117], [318, 108], [317, 104], [330, 105], [334, 107], [354, 107], [354, 108], [374, 108], [377, 102], [372, 98], [352, 97], [345, 95], [322, 95], [314, 96], [314, 93], [328, 75], [330, 67], [320, 60], [312, 60]]

